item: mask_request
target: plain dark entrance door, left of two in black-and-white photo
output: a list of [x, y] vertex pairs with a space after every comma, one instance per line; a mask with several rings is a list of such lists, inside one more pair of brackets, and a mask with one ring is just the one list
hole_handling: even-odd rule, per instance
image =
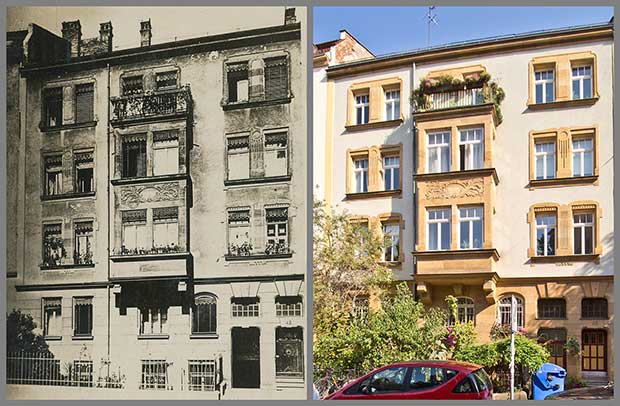
[[232, 387], [260, 388], [260, 330], [232, 329]]

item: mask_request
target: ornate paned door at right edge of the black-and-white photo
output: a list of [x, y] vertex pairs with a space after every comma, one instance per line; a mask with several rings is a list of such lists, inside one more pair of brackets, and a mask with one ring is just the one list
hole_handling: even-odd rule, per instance
[[276, 327], [276, 377], [303, 378], [304, 336], [301, 327]]

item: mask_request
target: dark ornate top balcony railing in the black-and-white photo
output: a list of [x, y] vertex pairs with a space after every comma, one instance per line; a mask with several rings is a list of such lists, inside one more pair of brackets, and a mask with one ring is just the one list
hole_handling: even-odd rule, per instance
[[191, 107], [189, 85], [180, 89], [113, 97], [111, 121], [122, 122], [152, 117], [186, 114]]

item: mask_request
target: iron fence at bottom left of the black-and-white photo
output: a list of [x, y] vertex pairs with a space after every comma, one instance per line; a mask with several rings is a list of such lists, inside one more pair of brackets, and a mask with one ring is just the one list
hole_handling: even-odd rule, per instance
[[88, 388], [124, 387], [125, 377], [111, 372], [109, 362], [102, 361], [95, 376], [92, 360], [63, 361], [51, 353], [8, 353], [6, 383], [13, 385], [75, 386]]

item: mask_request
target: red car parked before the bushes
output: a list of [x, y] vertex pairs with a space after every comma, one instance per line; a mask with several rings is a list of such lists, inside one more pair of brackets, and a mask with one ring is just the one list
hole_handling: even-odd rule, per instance
[[480, 365], [411, 361], [375, 369], [325, 400], [490, 400], [492, 394], [491, 378]]

